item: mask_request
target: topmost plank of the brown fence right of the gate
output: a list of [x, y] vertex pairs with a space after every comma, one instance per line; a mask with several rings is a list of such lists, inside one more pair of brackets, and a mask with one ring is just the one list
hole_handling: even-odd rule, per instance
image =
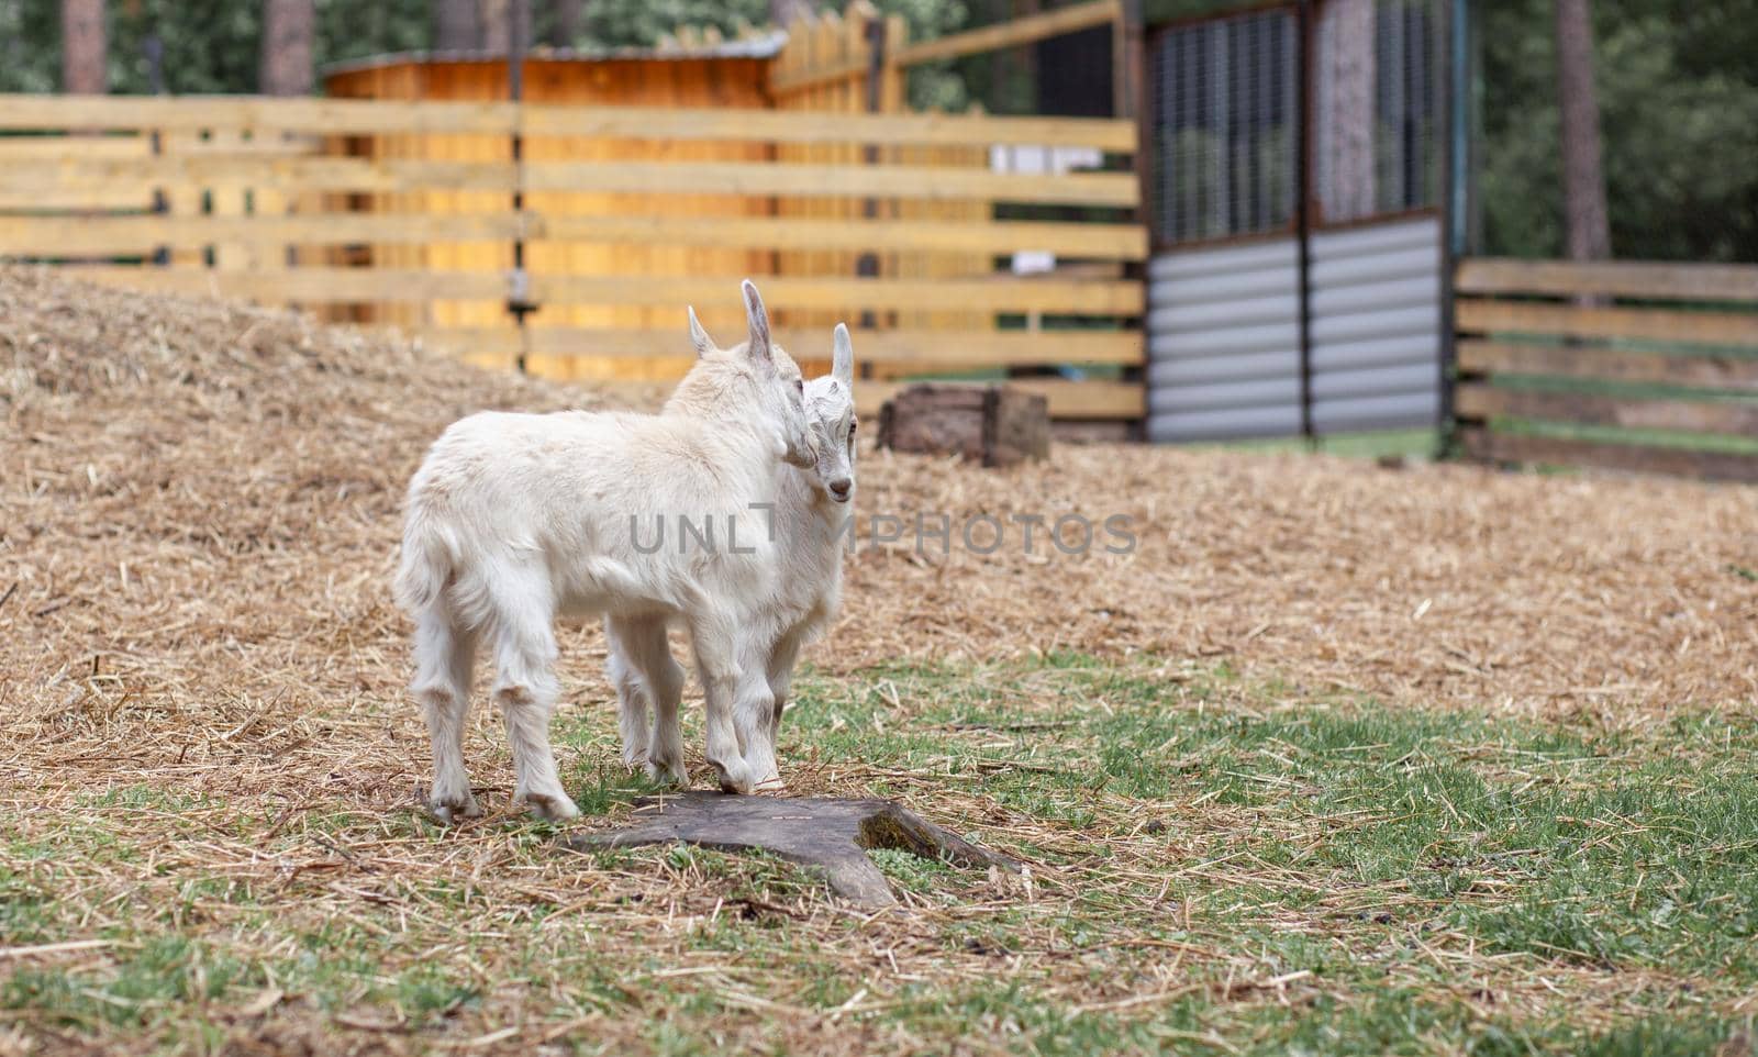
[[1459, 262], [1461, 294], [1605, 294], [1656, 301], [1758, 301], [1758, 264], [1660, 264], [1647, 260]]

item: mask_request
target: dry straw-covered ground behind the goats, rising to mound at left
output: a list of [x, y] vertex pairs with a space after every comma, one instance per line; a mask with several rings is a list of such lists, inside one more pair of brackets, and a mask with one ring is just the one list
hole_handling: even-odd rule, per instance
[[[389, 596], [403, 487], [471, 410], [608, 399], [0, 269], [4, 807], [230, 797], [267, 827], [214, 837], [239, 864], [316, 802], [406, 809], [425, 733]], [[832, 677], [1072, 651], [1609, 726], [1758, 703], [1758, 489], [1150, 447], [984, 471], [865, 447], [858, 512], [844, 614], [807, 654]], [[1086, 554], [1027, 552], [1009, 522], [993, 554], [918, 552], [916, 517], [941, 514], [955, 543], [984, 514], [1122, 517], [1134, 547], [1101, 529]], [[904, 538], [872, 543], [874, 515]], [[564, 707], [608, 726], [596, 628], [563, 649]], [[420, 869], [489, 869], [473, 848]]]

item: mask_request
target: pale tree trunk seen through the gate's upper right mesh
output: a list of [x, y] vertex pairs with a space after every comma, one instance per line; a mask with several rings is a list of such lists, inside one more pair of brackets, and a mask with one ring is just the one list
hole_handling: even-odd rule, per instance
[[1375, 19], [1373, 0], [1331, 0], [1318, 40], [1318, 208], [1324, 220], [1371, 216]]

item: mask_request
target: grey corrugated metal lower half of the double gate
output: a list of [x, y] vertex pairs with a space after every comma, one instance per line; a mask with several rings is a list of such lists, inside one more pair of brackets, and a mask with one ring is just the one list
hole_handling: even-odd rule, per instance
[[[1318, 433], [1440, 415], [1440, 223], [1311, 237], [1311, 419]], [[1299, 405], [1294, 239], [1176, 250], [1148, 264], [1148, 436], [1292, 436]]]

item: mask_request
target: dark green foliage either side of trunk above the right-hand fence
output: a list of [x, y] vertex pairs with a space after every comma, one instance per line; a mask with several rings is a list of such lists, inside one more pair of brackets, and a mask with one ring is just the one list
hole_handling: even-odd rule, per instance
[[[1486, 251], [1563, 248], [1552, 0], [1482, 5]], [[1612, 251], [1758, 260], [1758, 28], [1740, 0], [1596, 0]]]

